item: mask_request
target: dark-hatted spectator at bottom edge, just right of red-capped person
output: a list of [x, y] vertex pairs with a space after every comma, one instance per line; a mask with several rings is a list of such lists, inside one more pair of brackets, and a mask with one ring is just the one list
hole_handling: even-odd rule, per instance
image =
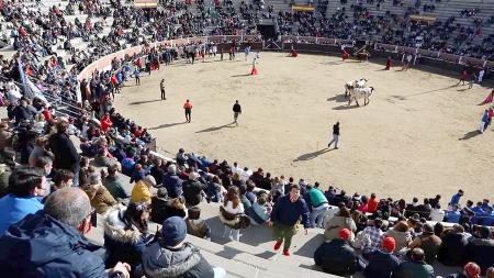
[[434, 268], [424, 262], [424, 251], [415, 248], [412, 251], [412, 260], [400, 264], [392, 278], [435, 278]]

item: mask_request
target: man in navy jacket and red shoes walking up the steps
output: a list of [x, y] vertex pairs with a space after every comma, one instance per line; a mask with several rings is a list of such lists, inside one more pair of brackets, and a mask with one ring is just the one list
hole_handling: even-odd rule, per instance
[[283, 255], [290, 256], [290, 245], [292, 237], [296, 233], [296, 224], [302, 218], [301, 224], [304, 225], [305, 234], [311, 226], [308, 222], [308, 209], [304, 199], [300, 196], [300, 186], [292, 185], [290, 193], [278, 199], [272, 208], [269, 226], [273, 227], [273, 235], [277, 243], [274, 251], [278, 251], [283, 245]]

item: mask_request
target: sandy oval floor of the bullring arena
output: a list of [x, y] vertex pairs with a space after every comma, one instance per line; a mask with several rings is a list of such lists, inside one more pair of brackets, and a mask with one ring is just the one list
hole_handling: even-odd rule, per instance
[[[165, 155], [183, 147], [348, 193], [407, 200], [441, 193], [446, 204], [463, 188], [465, 199], [492, 199], [493, 126], [476, 132], [486, 88], [451, 87], [457, 80], [414, 69], [280, 53], [261, 53], [259, 75], [249, 76], [251, 58], [179, 60], [144, 74], [141, 87], [130, 81], [115, 105], [147, 126]], [[344, 84], [361, 77], [377, 91], [369, 105], [348, 107]], [[159, 100], [161, 78], [166, 101]], [[186, 99], [194, 105], [192, 123], [184, 122]], [[235, 100], [244, 111], [238, 126], [232, 124]], [[336, 121], [341, 136], [333, 151], [326, 146]]]

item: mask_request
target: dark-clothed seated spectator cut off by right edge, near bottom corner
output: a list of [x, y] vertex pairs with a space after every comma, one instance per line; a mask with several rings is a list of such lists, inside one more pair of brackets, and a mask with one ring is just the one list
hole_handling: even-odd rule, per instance
[[484, 275], [487, 268], [494, 266], [494, 240], [486, 226], [475, 226], [472, 235], [467, 246], [467, 260], [478, 264]]

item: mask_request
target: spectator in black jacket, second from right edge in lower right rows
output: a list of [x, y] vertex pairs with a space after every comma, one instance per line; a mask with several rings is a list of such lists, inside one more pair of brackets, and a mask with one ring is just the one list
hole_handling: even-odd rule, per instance
[[452, 229], [442, 232], [441, 246], [439, 247], [437, 259], [446, 266], [459, 266], [465, 262], [467, 258], [467, 236], [464, 227], [454, 224]]

